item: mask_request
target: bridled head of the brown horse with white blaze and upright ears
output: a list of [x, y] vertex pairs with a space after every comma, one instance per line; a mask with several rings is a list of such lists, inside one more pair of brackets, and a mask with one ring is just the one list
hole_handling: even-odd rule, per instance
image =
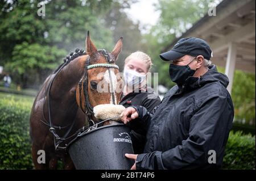
[[86, 115], [93, 115], [93, 107], [100, 104], [118, 104], [122, 92], [122, 78], [115, 64], [122, 50], [122, 37], [115, 44], [112, 52], [97, 49], [86, 36], [85, 74], [76, 88], [77, 104]]

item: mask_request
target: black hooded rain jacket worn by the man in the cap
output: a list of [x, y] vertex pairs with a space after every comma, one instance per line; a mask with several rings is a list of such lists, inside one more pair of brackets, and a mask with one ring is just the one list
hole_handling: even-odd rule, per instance
[[228, 83], [213, 66], [172, 87], [151, 113], [133, 106], [147, 130], [137, 169], [220, 169], [234, 117]]

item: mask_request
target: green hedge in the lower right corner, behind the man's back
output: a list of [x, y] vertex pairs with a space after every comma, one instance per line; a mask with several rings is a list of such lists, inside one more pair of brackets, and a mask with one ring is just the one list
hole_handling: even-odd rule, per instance
[[255, 170], [255, 136], [230, 132], [223, 159], [223, 169]]

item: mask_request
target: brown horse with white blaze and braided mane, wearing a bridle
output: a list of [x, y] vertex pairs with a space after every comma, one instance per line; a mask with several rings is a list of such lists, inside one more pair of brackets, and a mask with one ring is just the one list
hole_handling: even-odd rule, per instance
[[[88, 119], [97, 121], [92, 108], [98, 104], [118, 104], [121, 92], [117, 92], [115, 76], [119, 71], [115, 61], [122, 50], [122, 37], [111, 53], [97, 50], [86, 37], [86, 53], [76, 50], [64, 64], [49, 75], [35, 98], [30, 116], [32, 159], [36, 169], [56, 169], [57, 160], [62, 159], [64, 169], [75, 169], [65, 149], [76, 131], [88, 124]], [[99, 73], [103, 73], [100, 76]], [[114, 91], [98, 92], [97, 83], [109, 84]], [[76, 101], [77, 98], [77, 101]], [[61, 137], [61, 138], [59, 138]], [[44, 150], [45, 163], [39, 163], [39, 150]]]

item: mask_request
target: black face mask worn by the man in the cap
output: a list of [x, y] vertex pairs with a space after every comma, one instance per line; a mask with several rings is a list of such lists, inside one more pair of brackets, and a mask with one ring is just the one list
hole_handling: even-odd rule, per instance
[[[195, 60], [195, 58], [193, 60]], [[192, 61], [190, 61], [188, 65]], [[172, 82], [177, 83], [177, 85], [183, 85], [188, 77], [191, 77], [193, 74], [195, 74], [196, 70], [191, 69], [188, 65], [170, 64], [169, 74]]]

